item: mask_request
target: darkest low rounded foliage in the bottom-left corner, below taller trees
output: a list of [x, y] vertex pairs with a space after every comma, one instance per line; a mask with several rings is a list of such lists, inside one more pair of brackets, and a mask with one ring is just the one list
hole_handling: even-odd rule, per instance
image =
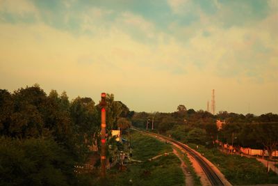
[[0, 139], [0, 185], [68, 185], [74, 162], [53, 139]]

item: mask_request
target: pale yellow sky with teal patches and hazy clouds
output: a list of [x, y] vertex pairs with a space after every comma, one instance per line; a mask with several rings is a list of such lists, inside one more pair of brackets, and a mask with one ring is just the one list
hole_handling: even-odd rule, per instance
[[0, 0], [0, 88], [278, 113], [278, 0]]

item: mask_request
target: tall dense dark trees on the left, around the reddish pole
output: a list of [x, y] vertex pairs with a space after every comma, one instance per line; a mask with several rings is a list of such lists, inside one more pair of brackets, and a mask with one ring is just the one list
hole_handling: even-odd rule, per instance
[[[129, 108], [113, 94], [106, 101], [108, 131], [130, 125]], [[91, 98], [47, 95], [38, 84], [0, 89], [0, 185], [86, 185], [74, 165], [99, 144], [99, 130], [100, 107]]]

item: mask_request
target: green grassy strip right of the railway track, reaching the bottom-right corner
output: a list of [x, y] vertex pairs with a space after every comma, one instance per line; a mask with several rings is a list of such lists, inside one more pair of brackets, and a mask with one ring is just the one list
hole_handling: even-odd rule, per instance
[[191, 144], [191, 148], [218, 166], [218, 169], [233, 185], [277, 184], [278, 176], [267, 169], [255, 158], [241, 157], [240, 155], [228, 155], [221, 153], [217, 148], [205, 148]]

